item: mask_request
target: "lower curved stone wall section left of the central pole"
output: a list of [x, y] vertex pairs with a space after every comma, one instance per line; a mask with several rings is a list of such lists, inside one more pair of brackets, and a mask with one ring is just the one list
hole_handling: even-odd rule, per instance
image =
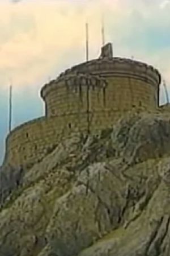
[[74, 115], [67, 115], [24, 123], [6, 139], [5, 163], [15, 167], [36, 163], [63, 137], [79, 129], [86, 130], [86, 116], [81, 122]]

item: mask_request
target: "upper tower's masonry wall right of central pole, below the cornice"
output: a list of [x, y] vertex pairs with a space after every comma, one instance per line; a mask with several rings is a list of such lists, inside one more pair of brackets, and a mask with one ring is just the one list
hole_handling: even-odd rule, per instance
[[90, 94], [90, 106], [94, 112], [126, 111], [136, 109], [156, 109], [156, 90], [147, 82], [114, 77], [107, 79], [105, 90], [95, 90]]

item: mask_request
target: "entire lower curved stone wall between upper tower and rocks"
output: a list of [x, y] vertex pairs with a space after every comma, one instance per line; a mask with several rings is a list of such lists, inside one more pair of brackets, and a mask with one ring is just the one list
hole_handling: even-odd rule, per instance
[[[121, 113], [122, 114], [122, 113]], [[121, 117], [119, 112], [89, 113], [89, 123], [92, 133], [113, 126], [115, 120]], [[14, 129], [6, 139], [6, 156], [4, 163], [13, 167], [30, 166], [39, 162], [63, 138], [73, 132], [88, 132], [87, 113], [81, 115], [69, 114], [58, 117], [42, 117]]]

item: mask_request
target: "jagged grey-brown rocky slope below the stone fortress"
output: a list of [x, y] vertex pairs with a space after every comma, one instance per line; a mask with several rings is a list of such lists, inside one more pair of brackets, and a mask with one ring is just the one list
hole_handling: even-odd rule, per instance
[[169, 153], [170, 118], [136, 114], [2, 167], [0, 256], [170, 255]]

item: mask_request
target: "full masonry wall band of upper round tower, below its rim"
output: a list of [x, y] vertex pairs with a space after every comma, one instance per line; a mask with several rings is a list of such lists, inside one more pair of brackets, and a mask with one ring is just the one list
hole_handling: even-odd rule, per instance
[[[105, 78], [107, 85], [89, 86], [89, 110], [92, 112], [126, 111], [131, 108], [155, 109], [157, 92], [148, 82], [129, 77]], [[48, 93], [46, 115], [83, 114], [87, 112], [87, 85], [66, 87], [62, 81]]]

